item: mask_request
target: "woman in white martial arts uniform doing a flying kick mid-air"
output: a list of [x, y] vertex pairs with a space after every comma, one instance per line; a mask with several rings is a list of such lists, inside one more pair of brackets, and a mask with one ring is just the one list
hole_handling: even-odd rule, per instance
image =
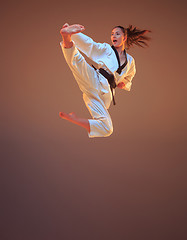
[[[133, 44], [147, 46], [148, 30], [139, 30], [131, 25], [128, 28], [114, 27], [111, 33], [112, 46], [107, 43], [96, 43], [84, 35], [84, 26], [64, 24], [60, 30], [60, 43], [65, 60], [69, 65], [80, 90], [83, 100], [92, 119], [80, 118], [75, 113], [60, 112], [62, 119], [68, 120], [86, 129], [89, 137], [107, 137], [113, 132], [112, 120], [107, 109], [114, 95], [114, 85], [130, 91], [135, 75], [135, 61], [126, 53]], [[98, 70], [90, 66], [81, 55], [83, 52], [93, 60]], [[113, 77], [113, 87], [102, 74], [101, 69]]]

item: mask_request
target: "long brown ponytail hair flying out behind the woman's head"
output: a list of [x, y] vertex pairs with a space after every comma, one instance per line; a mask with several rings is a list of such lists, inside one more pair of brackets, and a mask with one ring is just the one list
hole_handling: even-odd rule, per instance
[[150, 37], [145, 36], [145, 34], [151, 32], [150, 30], [140, 30], [137, 27], [133, 27], [132, 25], [129, 25], [127, 28], [124, 28], [122, 26], [116, 26], [114, 28], [120, 28], [123, 31], [124, 35], [127, 36], [127, 49], [129, 49], [134, 44], [139, 47], [147, 47], [147, 42], [151, 39]]

